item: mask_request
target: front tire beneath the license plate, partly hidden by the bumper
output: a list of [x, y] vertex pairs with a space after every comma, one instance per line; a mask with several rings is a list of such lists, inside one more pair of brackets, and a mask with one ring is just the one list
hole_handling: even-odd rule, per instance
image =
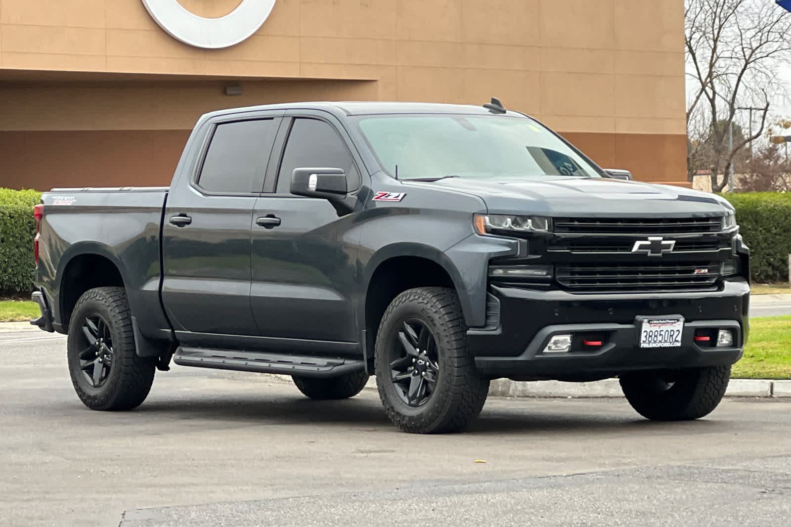
[[653, 421], [688, 421], [709, 415], [728, 388], [731, 366], [690, 368], [673, 373], [675, 382], [662, 389], [658, 373], [630, 373], [620, 378], [626, 400]]

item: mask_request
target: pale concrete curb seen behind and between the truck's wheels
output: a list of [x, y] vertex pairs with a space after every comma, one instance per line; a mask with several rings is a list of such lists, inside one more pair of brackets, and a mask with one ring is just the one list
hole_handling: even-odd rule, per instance
[[[282, 381], [291, 382], [289, 375], [272, 374]], [[377, 380], [371, 377], [366, 389], [377, 389]], [[618, 379], [597, 382], [533, 381], [517, 382], [510, 379], [492, 381], [489, 395], [494, 397], [539, 397], [544, 399], [592, 399], [597, 397], [623, 397]], [[789, 397], [791, 381], [765, 379], [731, 379], [726, 397]]]

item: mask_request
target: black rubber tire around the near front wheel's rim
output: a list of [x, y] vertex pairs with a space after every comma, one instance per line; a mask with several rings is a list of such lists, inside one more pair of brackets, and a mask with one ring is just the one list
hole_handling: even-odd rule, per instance
[[[417, 318], [433, 333], [439, 357], [437, 389], [417, 408], [395, 392], [390, 378], [388, 346], [407, 318]], [[479, 377], [467, 350], [467, 325], [456, 292], [445, 287], [418, 287], [399, 294], [384, 312], [375, 347], [379, 397], [390, 420], [411, 434], [441, 434], [464, 430], [477, 417], [489, 380]]]

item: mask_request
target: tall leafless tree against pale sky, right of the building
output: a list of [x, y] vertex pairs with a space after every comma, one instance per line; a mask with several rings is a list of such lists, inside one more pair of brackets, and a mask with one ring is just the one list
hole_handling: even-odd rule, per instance
[[[778, 64], [791, 57], [789, 35], [791, 13], [774, 2], [687, 0], [687, 75], [694, 80], [687, 106], [689, 180], [709, 169], [712, 190], [721, 191], [736, 154], [762, 135], [770, 95], [779, 89]], [[730, 146], [740, 107], [757, 112], [759, 126]]]

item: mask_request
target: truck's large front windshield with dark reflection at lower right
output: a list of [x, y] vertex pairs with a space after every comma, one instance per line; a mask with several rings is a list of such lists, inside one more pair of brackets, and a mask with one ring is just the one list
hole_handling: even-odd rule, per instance
[[599, 177], [589, 161], [528, 117], [363, 116], [358, 126], [399, 180], [459, 177]]

